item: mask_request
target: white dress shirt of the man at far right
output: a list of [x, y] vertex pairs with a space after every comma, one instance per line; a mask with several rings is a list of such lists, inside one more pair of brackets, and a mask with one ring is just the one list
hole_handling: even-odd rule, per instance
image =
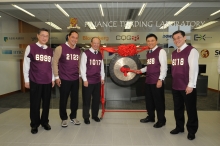
[[[180, 48], [180, 51], [185, 49], [188, 45], [185, 43], [183, 44]], [[172, 55], [171, 55], [171, 60], [172, 60]], [[188, 64], [189, 64], [189, 82], [188, 82], [188, 87], [191, 88], [196, 88], [196, 81], [198, 77], [198, 71], [199, 71], [199, 53], [198, 51], [193, 48], [188, 57]]]

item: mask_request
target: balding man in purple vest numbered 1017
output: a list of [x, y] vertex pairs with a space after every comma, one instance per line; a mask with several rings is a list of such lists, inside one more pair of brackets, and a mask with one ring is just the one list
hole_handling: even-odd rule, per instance
[[85, 124], [90, 124], [90, 101], [92, 98], [92, 119], [100, 122], [98, 118], [100, 89], [104, 84], [104, 63], [101, 53], [98, 51], [100, 47], [100, 39], [94, 37], [91, 39], [91, 48], [82, 53], [80, 71], [83, 79], [82, 96], [83, 96], [83, 118]]

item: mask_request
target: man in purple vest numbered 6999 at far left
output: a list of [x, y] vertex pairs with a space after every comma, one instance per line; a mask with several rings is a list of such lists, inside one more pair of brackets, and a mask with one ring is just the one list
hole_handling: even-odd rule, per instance
[[[30, 119], [31, 133], [36, 134], [42, 125], [45, 130], [50, 130], [49, 109], [51, 89], [54, 86], [52, 74], [53, 49], [46, 43], [49, 39], [47, 29], [39, 29], [38, 42], [28, 45], [25, 50], [23, 73], [25, 87], [30, 88]], [[40, 107], [42, 100], [42, 114]]]

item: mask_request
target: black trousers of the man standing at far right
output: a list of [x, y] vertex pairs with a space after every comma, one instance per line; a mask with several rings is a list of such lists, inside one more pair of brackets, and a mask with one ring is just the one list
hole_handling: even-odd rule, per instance
[[[198, 115], [197, 115], [197, 92], [194, 88], [193, 91], [186, 95], [185, 90], [172, 90], [174, 101], [174, 116], [176, 119], [176, 128], [179, 130], [184, 129], [185, 118], [184, 110], [188, 115], [188, 121], [186, 127], [189, 133], [196, 133], [198, 129]], [[185, 104], [185, 106], [184, 106]]]

